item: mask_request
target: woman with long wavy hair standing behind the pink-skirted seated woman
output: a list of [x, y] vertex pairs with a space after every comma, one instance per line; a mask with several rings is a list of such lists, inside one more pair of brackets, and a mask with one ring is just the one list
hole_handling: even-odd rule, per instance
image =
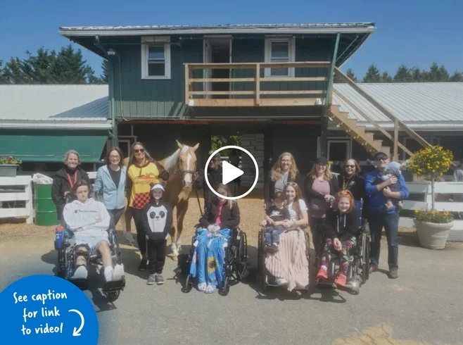
[[267, 182], [264, 187], [264, 208], [272, 206], [272, 197], [277, 192], [283, 192], [287, 182], [296, 182], [302, 186], [303, 180], [300, 177], [296, 161], [289, 152], [281, 153], [277, 162], [270, 170]]

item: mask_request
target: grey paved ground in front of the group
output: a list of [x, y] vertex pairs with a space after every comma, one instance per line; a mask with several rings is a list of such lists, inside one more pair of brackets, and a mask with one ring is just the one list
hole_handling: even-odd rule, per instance
[[[27, 275], [53, 274], [52, 241], [53, 234], [1, 243], [0, 291]], [[250, 247], [251, 263], [255, 253]], [[431, 251], [402, 239], [399, 279], [376, 272], [358, 296], [262, 294], [255, 282], [237, 284], [226, 297], [184, 294], [182, 282], [172, 279], [173, 261], [167, 261], [166, 284], [148, 287], [146, 274], [137, 271], [137, 249], [122, 246], [122, 256], [127, 287], [118, 301], [86, 291], [99, 317], [100, 344], [463, 344], [461, 244]]]

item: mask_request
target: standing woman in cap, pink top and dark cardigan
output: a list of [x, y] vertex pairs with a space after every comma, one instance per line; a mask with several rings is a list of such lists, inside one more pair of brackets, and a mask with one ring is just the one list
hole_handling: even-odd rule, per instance
[[319, 255], [322, 252], [322, 225], [324, 225], [330, 203], [334, 201], [334, 195], [339, 190], [336, 176], [329, 171], [326, 158], [317, 158], [312, 170], [305, 179], [304, 189], [310, 213], [309, 222], [312, 242], [315, 253]]

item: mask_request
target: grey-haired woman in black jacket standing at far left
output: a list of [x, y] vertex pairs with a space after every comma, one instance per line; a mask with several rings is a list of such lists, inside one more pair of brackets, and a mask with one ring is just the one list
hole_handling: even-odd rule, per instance
[[90, 186], [89, 175], [80, 168], [80, 156], [77, 151], [69, 150], [64, 155], [63, 168], [58, 170], [53, 177], [51, 185], [51, 199], [56, 205], [56, 218], [63, 227], [66, 226], [63, 218], [63, 210], [66, 203], [75, 200], [75, 195], [71, 193], [72, 187], [79, 181], [85, 181]]

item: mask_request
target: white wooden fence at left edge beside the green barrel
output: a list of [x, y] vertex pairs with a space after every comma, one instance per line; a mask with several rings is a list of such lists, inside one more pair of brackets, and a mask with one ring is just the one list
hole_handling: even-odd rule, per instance
[[0, 218], [27, 217], [27, 224], [34, 220], [32, 210], [32, 177], [0, 177], [0, 202], [25, 201], [25, 207], [1, 207]]

